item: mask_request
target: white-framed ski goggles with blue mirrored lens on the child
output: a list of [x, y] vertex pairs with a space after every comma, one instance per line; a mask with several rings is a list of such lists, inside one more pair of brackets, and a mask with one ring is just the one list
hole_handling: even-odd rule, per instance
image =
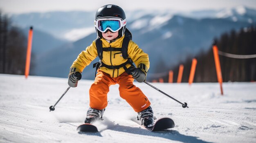
[[98, 20], [94, 20], [94, 26], [102, 33], [105, 33], [107, 30], [115, 33], [125, 25], [126, 19], [121, 20], [119, 18], [100, 18]]

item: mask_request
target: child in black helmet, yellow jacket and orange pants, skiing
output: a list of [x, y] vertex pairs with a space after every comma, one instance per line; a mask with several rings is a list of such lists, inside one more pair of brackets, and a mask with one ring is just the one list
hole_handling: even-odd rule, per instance
[[[154, 123], [153, 110], [150, 101], [143, 92], [133, 85], [146, 81], [149, 68], [148, 54], [144, 53], [137, 44], [132, 42], [131, 34], [126, 29], [126, 15], [121, 7], [108, 4], [98, 9], [94, 26], [97, 39], [82, 51], [70, 68], [68, 85], [76, 87], [81, 79], [81, 72], [97, 56], [97, 75], [92, 84], [90, 108], [87, 111], [85, 123], [102, 119], [107, 107], [107, 93], [110, 85], [119, 84], [120, 97], [125, 99], [138, 113], [141, 125], [150, 127]], [[135, 63], [137, 68], [133, 66]]]

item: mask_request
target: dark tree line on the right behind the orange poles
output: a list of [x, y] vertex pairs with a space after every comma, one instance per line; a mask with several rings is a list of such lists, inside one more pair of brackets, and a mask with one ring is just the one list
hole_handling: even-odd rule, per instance
[[[242, 28], [239, 31], [231, 30], [223, 33], [218, 39], [214, 38], [219, 51], [236, 55], [256, 54], [256, 26]], [[222, 78], [228, 81], [256, 81], [256, 58], [235, 59], [219, 55]], [[184, 62], [182, 82], [189, 81], [192, 58], [189, 56]], [[216, 68], [212, 46], [195, 56], [198, 63], [195, 70], [194, 82], [217, 82]], [[177, 81], [180, 64], [168, 68], [173, 70], [173, 82]], [[168, 75], [162, 77], [168, 82]]]

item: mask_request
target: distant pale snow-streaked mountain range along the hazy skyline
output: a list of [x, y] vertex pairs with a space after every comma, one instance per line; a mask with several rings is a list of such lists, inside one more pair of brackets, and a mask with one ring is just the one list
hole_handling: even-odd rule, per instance
[[[34, 26], [35, 29], [45, 31], [54, 35], [54, 37], [64, 38], [74, 41], [71, 31], [80, 29], [84, 37], [88, 35], [88, 30], [85, 28], [93, 27], [95, 11], [53, 11], [46, 13], [23, 13], [10, 15], [14, 25], [22, 28]], [[234, 8], [220, 9], [220, 10], [200, 10], [200, 11], [151, 11], [151, 10], [136, 10], [126, 11], [128, 22], [139, 20], [145, 16], [160, 16], [161, 15], [181, 15], [188, 18], [202, 19], [202, 18], [229, 18], [234, 21], [256, 21], [256, 10], [244, 6]], [[159, 19], [158, 19], [159, 20]], [[141, 26], [139, 26], [141, 27]], [[78, 37], [81, 39], [82, 37]], [[76, 40], [79, 40], [76, 38]]]

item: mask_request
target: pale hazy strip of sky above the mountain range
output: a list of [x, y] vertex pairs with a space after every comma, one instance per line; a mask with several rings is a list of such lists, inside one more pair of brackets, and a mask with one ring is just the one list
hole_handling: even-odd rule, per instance
[[119, 5], [125, 11], [134, 9], [192, 11], [240, 5], [256, 9], [256, 0], [0, 0], [0, 9], [4, 13], [92, 11], [105, 4]]

